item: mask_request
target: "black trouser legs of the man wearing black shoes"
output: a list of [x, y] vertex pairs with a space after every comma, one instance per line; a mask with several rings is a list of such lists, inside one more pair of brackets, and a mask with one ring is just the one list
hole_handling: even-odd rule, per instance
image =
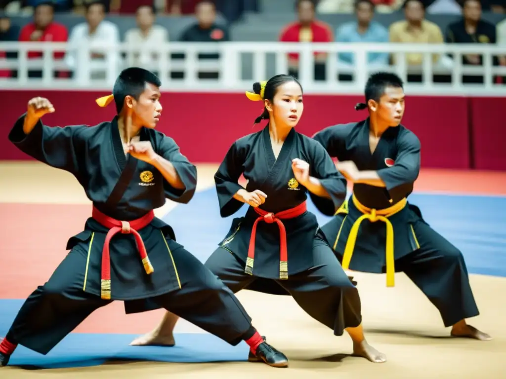
[[[250, 330], [251, 318], [235, 295], [185, 249], [172, 253], [181, 289], [147, 300], [237, 345]], [[82, 267], [65, 267], [66, 275], [59, 274], [61, 268], [26, 299], [6, 336], [8, 341], [47, 354], [96, 309], [111, 303], [82, 289], [69, 290], [71, 279], [62, 278], [72, 278], [68, 270], [77, 275]]]

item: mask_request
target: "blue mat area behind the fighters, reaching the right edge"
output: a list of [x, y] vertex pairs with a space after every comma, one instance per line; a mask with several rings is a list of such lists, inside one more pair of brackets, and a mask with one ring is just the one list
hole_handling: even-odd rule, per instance
[[[506, 197], [414, 194], [409, 197], [426, 221], [464, 257], [475, 274], [506, 276]], [[244, 205], [232, 217], [221, 218], [216, 189], [195, 194], [188, 205], [179, 205], [164, 220], [171, 224], [176, 238], [201, 261], [212, 254], [225, 238], [232, 219], [246, 211]], [[320, 225], [330, 217], [322, 215], [311, 201]]]

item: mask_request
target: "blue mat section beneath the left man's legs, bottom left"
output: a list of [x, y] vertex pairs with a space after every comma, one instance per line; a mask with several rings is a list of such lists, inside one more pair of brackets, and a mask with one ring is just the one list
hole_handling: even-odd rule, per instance
[[[24, 300], [0, 300], [0, 336], [7, 334], [7, 329], [23, 302]], [[176, 334], [177, 345], [174, 347], [129, 346], [135, 337], [137, 336], [125, 334], [72, 333], [48, 355], [19, 346], [9, 365], [65, 368], [96, 366], [109, 360], [198, 363], [246, 361], [248, 356], [246, 343], [231, 346], [207, 333]]]

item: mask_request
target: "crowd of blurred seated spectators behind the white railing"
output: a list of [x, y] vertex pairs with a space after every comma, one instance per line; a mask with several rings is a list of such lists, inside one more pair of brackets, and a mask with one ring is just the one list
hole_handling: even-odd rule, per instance
[[[293, 0], [286, 0], [291, 2]], [[494, 25], [482, 18], [482, 12], [506, 15], [506, 0], [297, 0], [294, 2], [298, 19], [286, 25], [279, 34], [285, 42], [396, 42], [396, 43], [487, 43], [504, 45], [505, 55], [494, 57], [495, 66], [506, 66], [506, 21]], [[241, 22], [245, 10], [258, 11], [257, 0], [0, 0], [3, 15], [0, 16], [1, 41], [68, 41], [77, 47], [83, 42], [91, 44], [142, 43], [156, 48], [160, 43], [173, 41], [166, 28], [156, 24], [157, 15], [195, 15], [195, 23], [187, 27], [176, 40], [197, 42], [219, 42], [231, 39], [229, 28]], [[54, 21], [58, 12], [82, 14], [84, 22], [67, 30], [65, 25]], [[403, 19], [390, 26], [374, 21], [376, 13], [402, 12]], [[225, 15], [226, 23], [217, 22], [217, 13]], [[350, 13], [354, 21], [340, 25], [333, 30], [330, 25], [318, 20], [319, 14]], [[120, 35], [118, 26], [105, 19], [107, 14], [135, 15], [137, 27]], [[456, 22], [446, 30], [426, 19], [426, 14], [460, 15]], [[10, 17], [32, 15], [32, 22], [21, 27], [13, 27]], [[11, 56], [10, 56], [11, 54]], [[13, 57], [12, 52], [3, 53], [4, 58]], [[42, 53], [30, 52], [28, 58], [40, 57]], [[108, 57], [106, 57], [109, 55]], [[90, 52], [90, 62], [104, 61], [119, 68], [124, 55], [107, 52]], [[155, 52], [135, 53], [130, 63], [145, 66], [159, 57]], [[204, 57], [209, 58], [209, 57]], [[210, 57], [213, 58], [213, 57]], [[218, 56], [214, 56], [218, 58]], [[2, 56], [0, 56], [2, 59]], [[55, 53], [55, 60], [63, 60], [68, 72], [58, 75], [71, 75], [76, 65], [76, 53]], [[297, 54], [289, 54], [290, 73], [297, 75], [299, 62]], [[324, 80], [325, 53], [315, 53], [315, 79]], [[395, 62], [396, 57], [388, 53], [370, 53], [370, 65], [384, 66]], [[422, 54], [408, 54], [407, 64], [416, 66], [422, 61]], [[339, 62], [353, 65], [352, 53], [338, 54]], [[434, 55], [437, 63], [441, 57]], [[464, 65], [480, 66], [483, 57], [478, 54], [465, 55]], [[16, 75], [14, 70], [2, 76]], [[37, 77], [40, 72], [32, 72]], [[500, 79], [498, 79], [500, 80]]]

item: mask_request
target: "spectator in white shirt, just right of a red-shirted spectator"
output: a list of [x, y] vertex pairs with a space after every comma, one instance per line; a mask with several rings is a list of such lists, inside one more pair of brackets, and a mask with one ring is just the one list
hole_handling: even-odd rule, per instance
[[[104, 20], [105, 7], [100, 1], [86, 4], [86, 22], [77, 24], [70, 33], [69, 44], [72, 52], [67, 54], [67, 65], [76, 70], [79, 65], [88, 66], [92, 78], [104, 78], [107, 69], [119, 69], [119, 52], [110, 51], [111, 46], [119, 44], [118, 27], [110, 21]], [[90, 48], [89, 60], [78, 62], [78, 50], [81, 46]], [[95, 50], [94, 50], [95, 48]], [[109, 50], [108, 52], [106, 52]]]

